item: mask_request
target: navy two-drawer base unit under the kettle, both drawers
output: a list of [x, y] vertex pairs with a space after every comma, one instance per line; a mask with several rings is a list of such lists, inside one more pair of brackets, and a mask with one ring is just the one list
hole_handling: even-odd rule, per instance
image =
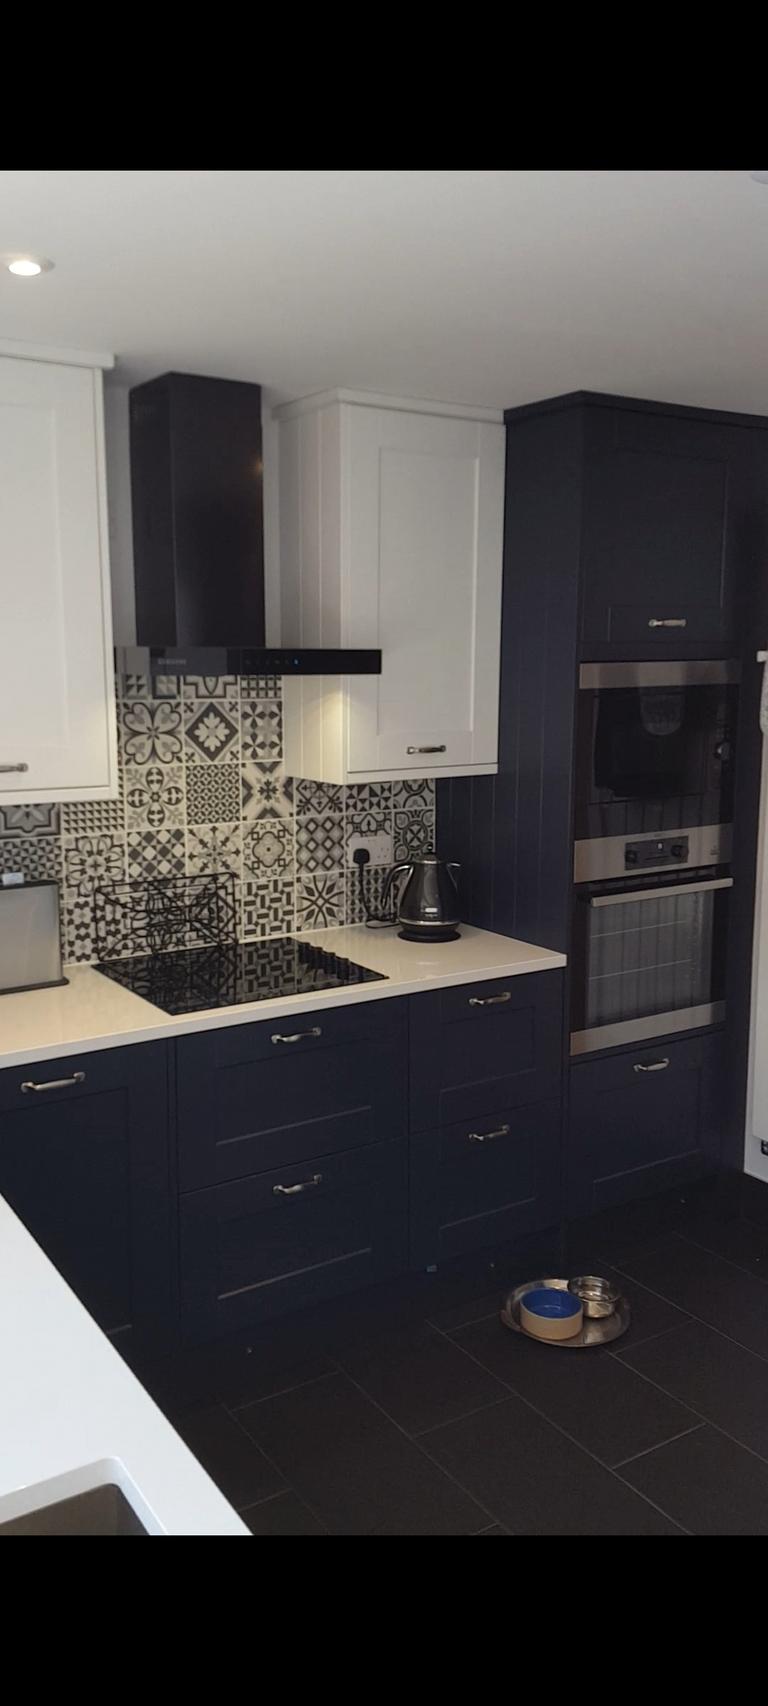
[[560, 971], [410, 1003], [411, 1266], [560, 1220]]

